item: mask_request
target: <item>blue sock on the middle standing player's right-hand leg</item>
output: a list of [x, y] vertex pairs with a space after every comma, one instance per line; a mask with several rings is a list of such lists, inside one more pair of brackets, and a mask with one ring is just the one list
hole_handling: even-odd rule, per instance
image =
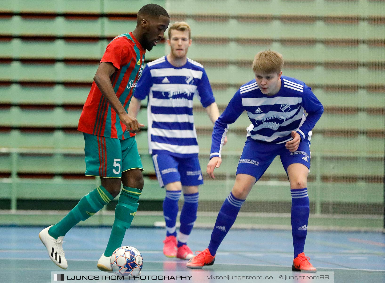
[[187, 244], [198, 211], [199, 193], [184, 194], [184, 204], [181, 211], [181, 227], [178, 234], [178, 248]]

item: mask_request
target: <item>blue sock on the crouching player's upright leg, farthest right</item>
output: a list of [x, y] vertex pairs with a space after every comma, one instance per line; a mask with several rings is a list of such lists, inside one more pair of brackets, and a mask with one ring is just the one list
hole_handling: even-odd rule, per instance
[[291, 233], [293, 234], [294, 258], [303, 253], [309, 220], [308, 188], [291, 192]]

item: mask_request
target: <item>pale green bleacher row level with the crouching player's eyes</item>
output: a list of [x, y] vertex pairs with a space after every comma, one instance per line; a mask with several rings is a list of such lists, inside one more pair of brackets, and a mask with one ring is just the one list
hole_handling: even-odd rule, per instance
[[[23, 81], [33, 79], [37, 81], [92, 81], [97, 70], [97, 61], [91, 64], [69, 64], [55, 62], [54, 64], [39, 64], [39, 62], [24, 63], [12, 61], [0, 64], [0, 80]], [[242, 85], [254, 78], [251, 67], [237, 67], [228, 65], [221, 68], [206, 66], [206, 72], [211, 83], [230, 83]], [[359, 78], [367, 78], [369, 84], [381, 84], [383, 77], [378, 71], [368, 68], [358, 69], [330, 69], [322, 66], [313, 68], [284, 67], [283, 74], [289, 77], [299, 77], [309, 86], [313, 84], [358, 84]], [[378, 74], [378, 75], [377, 75]]]

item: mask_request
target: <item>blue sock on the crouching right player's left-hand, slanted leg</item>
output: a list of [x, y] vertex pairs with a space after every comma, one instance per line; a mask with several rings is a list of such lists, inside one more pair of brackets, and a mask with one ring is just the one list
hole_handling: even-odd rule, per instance
[[224, 200], [221, 210], [218, 213], [213, 232], [211, 233], [211, 241], [208, 246], [212, 256], [216, 254], [224, 236], [226, 236], [231, 226], [233, 226], [243, 203], [244, 199], [237, 199], [232, 192], [230, 192], [227, 199]]

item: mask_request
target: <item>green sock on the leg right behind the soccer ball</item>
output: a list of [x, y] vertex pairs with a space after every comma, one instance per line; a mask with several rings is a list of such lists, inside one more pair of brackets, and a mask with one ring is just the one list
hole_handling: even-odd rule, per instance
[[104, 256], [111, 256], [115, 249], [122, 245], [124, 234], [126, 234], [126, 230], [130, 227], [138, 209], [138, 200], [141, 193], [142, 191], [139, 189], [123, 186], [115, 208], [115, 221]]

